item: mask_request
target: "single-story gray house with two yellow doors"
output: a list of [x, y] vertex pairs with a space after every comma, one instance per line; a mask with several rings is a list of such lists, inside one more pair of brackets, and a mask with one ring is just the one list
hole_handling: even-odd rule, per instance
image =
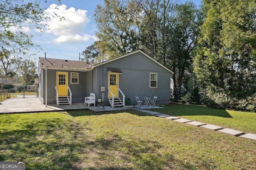
[[97, 106], [124, 106], [125, 98], [157, 96], [157, 104], [170, 102], [173, 72], [138, 50], [99, 64], [39, 58], [39, 94], [43, 104], [83, 103], [96, 94]]

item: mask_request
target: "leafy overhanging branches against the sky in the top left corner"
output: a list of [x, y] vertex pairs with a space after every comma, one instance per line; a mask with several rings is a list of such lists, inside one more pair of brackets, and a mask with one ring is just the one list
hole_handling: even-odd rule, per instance
[[42, 33], [46, 25], [40, 21], [50, 17], [40, 8], [37, 0], [0, 0], [0, 47], [12, 51], [13, 55], [26, 55], [30, 47], [38, 46], [31, 41], [33, 35], [24, 30], [37, 29], [33, 33]]

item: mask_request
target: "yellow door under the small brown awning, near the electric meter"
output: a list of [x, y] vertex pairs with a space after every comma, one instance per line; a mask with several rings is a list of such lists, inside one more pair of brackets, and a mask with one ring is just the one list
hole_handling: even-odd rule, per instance
[[[113, 72], [108, 72], [108, 88], [113, 93], [113, 97], [118, 97], [118, 75], [119, 74]], [[108, 97], [112, 97], [110, 92], [108, 92]]]

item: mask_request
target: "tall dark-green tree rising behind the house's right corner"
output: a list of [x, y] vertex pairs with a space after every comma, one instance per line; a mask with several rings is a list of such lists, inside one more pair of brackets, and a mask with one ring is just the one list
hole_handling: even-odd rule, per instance
[[168, 31], [164, 36], [169, 39], [165, 40], [169, 44], [165, 60], [174, 72], [174, 97], [180, 93], [185, 83], [184, 77], [186, 81], [191, 77], [194, 58], [192, 52], [199, 34], [199, 26], [202, 24], [202, 16], [192, 2], [186, 2], [174, 6], [174, 16], [168, 21]]

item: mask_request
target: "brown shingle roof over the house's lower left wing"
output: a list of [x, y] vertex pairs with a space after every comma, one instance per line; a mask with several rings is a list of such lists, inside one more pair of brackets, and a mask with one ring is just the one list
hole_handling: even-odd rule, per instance
[[95, 65], [91, 62], [85, 61], [73, 61], [73, 60], [63, 60], [63, 59], [50, 59], [39, 57], [39, 67], [60, 67], [60, 68], [88, 68], [90, 66]]

